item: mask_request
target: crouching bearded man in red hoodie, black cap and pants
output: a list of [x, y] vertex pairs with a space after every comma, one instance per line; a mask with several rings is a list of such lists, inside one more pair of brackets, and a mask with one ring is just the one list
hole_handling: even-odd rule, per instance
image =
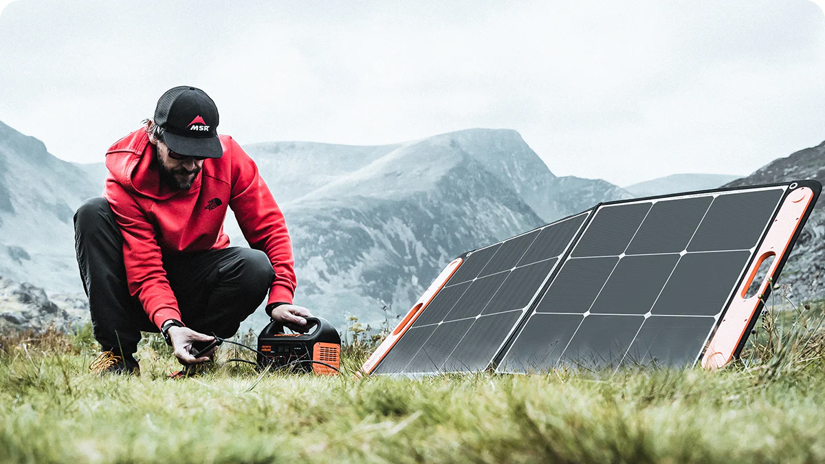
[[[139, 372], [140, 331], [158, 332], [182, 364], [196, 346], [231, 337], [261, 304], [300, 330], [310, 315], [293, 305], [295, 269], [284, 216], [257, 166], [228, 135], [205, 92], [176, 87], [153, 119], [106, 153], [103, 197], [74, 215], [75, 244], [101, 367]], [[252, 249], [229, 247], [227, 208]], [[111, 353], [107, 353], [111, 352]]]

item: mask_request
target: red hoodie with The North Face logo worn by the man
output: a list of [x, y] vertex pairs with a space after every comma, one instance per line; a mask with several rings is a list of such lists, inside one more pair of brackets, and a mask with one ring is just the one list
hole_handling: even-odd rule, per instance
[[155, 146], [143, 129], [126, 135], [106, 152], [109, 178], [103, 196], [123, 233], [129, 292], [138, 296], [158, 328], [166, 320], [181, 320], [162, 254], [228, 247], [229, 237], [224, 234], [228, 206], [247, 242], [266, 253], [275, 269], [267, 303], [291, 303], [295, 293], [295, 260], [284, 215], [238, 142], [229, 135], [219, 139], [224, 156], [205, 159], [187, 191], [160, 182]]

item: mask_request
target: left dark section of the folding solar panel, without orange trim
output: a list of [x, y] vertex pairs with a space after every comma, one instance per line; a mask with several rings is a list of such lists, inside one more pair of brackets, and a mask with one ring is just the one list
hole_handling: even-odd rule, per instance
[[375, 373], [486, 369], [589, 215], [462, 255]]

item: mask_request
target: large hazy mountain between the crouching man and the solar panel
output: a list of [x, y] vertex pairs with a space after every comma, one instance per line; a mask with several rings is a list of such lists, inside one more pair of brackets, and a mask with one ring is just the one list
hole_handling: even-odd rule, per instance
[[[335, 323], [356, 313], [378, 323], [389, 304], [403, 314], [458, 254], [631, 197], [609, 182], [554, 176], [514, 130], [374, 147], [276, 142], [245, 149], [285, 213], [296, 302]], [[242, 238], [232, 221], [227, 232], [236, 243]]]

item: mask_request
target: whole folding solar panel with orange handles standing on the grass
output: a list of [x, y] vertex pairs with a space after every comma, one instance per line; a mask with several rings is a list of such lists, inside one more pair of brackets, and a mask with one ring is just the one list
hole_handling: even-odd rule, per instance
[[804, 181], [602, 203], [464, 253], [362, 371], [722, 366], [821, 189]]

